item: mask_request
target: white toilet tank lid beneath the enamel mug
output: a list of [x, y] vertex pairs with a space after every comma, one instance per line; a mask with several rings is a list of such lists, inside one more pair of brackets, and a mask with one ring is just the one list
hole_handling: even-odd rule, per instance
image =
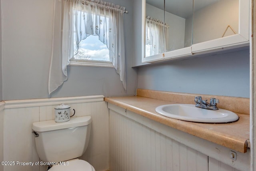
[[32, 124], [32, 129], [38, 132], [45, 132], [71, 127], [80, 127], [89, 125], [91, 122], [91, 116], [72, 117], [70, 121], [66, 122], [55, 122], [54, 120], [34, 122]]

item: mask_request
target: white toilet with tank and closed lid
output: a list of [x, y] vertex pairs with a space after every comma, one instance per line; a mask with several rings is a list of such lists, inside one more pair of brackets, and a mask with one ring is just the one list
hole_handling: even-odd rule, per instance
[[88, 147], [91, 122], [90, 116], [83, 116], [32, 124], [38, 156], [52, 165], [48, 171], [95, 171], [90, 163], [78, 159]]

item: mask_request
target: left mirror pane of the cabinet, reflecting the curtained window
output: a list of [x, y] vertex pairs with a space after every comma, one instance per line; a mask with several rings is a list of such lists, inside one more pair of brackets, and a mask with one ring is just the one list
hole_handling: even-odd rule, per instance
[[[157, 7], [156, 7], [157, 6]], [[164, 52], [164, 0], [146, 0], [145, 57]]]

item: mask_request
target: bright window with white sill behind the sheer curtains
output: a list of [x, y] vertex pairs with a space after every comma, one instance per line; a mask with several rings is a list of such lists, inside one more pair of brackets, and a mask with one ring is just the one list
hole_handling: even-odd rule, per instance
[[[90, 11], [91, 9], [87, 10]], [[103, 16], [100, 12], [88, 11], [74, 12], [74, 56], [70, 60], [71, 65], [79, 64], [114, 68], [106, 41], [108, 34], [106, 36], [103, 34], [104, 39], [100, 40], [99, 37], [102, 36], [100, 32], [106, 31], [106, 28], [109, 28], [108, 13], [105, 13]], [[80, 27], [80, 29], [77, 29], [77, 27]], [[76, 45], [77, 39], [79, 39], [78, 34], [81, 37], [80, 42]]]

